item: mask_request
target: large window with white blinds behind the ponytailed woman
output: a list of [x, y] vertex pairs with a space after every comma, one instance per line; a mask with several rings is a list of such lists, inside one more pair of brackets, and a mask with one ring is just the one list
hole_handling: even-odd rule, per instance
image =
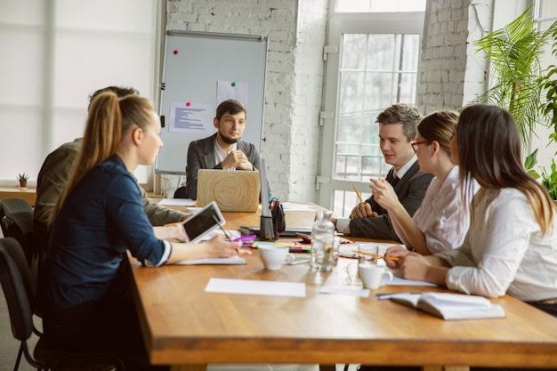
[[[0, 186], [83, 135], [88, 96], [127, 85], [155, 97], [159, 1], [0, 2]], [[136, 175], [148, 182], [153, 172]]]

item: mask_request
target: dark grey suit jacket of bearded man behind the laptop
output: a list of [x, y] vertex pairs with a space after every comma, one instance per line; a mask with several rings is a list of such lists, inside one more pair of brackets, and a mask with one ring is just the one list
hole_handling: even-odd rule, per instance
[[[216, 158], [214, 157], [214, 142], [216, 141], [216, 133], [210, 137], [191, 141], [188, 147], [188, 164], [186, 165], [186, 198], [198, 198], [198, 170], [199, 169], [222, 169], [221, 164], [214, 165]], [[247, 160], [254, 165], [254, 168], [260, 170], [260, 158], [254, 144], [247, 141], [238, 141], [237, 147], [244, 152]], [[240, 170], [240, 169], [238, 169]], [[267, 181], [267, 189], [269, 181]]]

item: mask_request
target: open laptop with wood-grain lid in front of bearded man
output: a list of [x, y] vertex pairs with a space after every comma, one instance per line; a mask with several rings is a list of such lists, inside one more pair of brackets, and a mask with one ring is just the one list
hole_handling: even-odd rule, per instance
[[214, 201], [221, 211], [254, 213], [260, 187], [258, 171], [199, 169], [197, 206]]

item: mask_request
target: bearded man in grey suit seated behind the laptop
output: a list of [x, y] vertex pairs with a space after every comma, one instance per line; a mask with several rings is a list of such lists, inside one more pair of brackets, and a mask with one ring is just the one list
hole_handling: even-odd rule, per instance
[[254, 144], [240, 138], [246, 129], [246, 107], [239, 101], [223, 101], [216, 109], [213, 125], [217, 132], [190, 142], [186, 165], [185, 198], [198, 198], [198, 170], [254, 171], [260, 158]]

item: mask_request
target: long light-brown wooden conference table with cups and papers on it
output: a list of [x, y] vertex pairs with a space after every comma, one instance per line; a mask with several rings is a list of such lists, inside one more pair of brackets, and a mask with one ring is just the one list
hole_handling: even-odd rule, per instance
[[[259, 213], [223, 213], [228, 230], [259, 223]], [[286, 212], [287, 227], [314, 213]], [[384, 241], [383, 241], [384, 242]], [[263, 270], [257, 251], [246, 265], [141, 268], [132, 261], [136, 306], [153, 364], [202, 370], [218, 363], [414, 365], [557, 368], [557, 319], [504, 296], [505, 319], [445, 321], [376, 293], [443, 291], [381, 286], [367, 298], [319, 294], [327, 273], [307, 264]], [[339, 266], [350, 261], [341, 258]], [[339, 269], [337, 267], [336, 269]], [[304, 282], [306, 297], [210, 294], [210, 278]]]

